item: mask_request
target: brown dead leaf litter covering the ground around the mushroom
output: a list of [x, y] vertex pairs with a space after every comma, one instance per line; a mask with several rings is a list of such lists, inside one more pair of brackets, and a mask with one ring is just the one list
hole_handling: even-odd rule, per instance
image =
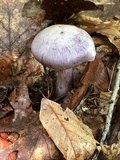
[[[106, 145], [99, 144], [99, 141], [120, 55], [120, 2], [84, 1], [87, 9], [84, 6], [81, 10], [79, 6], [74, 8], [78, 0], [75, 0], [75, 5], [60, 0], [57, 9], [61, 5], [67, 7], [70, 12], [66, 17], [64, 14], [61, 16], [60, 11], [56, 16], [56, 10], [48, 7], [51, 2], [56, 4], [56, 0], [51, 0], [42, 5], [49, 9], [47, 12], [41, 8], [42, 1], [1, 1], [0, 147], [6, 146], [0, 149], [0, 159], [93, 160], [97, 155], [98, 160], [119, 159], [119, 91]], [[42, 99], [44, 95], [54, 98], [55, 75], [50, 69], [44, 70], [30, 50], [33, 36], [51, 23], [51, 17], [52, 22], [57, 23], [59, 16], [62, 23], [76, 24], [88, 31], [98, 52], [94, 62], [75, 68], [76, 74], [80, 74], [79, 80], [74, 79], [75, 88], [62, 101], [58, 100], [61, 105]], [[47, 74], [47, 79], [44, 74]], [[53, 95], [48, 94], [50, 88]], [[39, 106], [39, 109], [34, 110], [33, 106]], [[79, 109], [75, 112], [76, 107]]]

